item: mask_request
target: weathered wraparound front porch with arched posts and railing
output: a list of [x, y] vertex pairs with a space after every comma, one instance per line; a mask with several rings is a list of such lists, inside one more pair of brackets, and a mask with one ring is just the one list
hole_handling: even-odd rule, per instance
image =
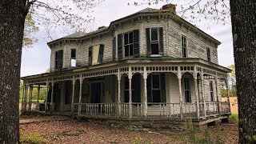
[[[230, 114], [229, 101], [221, 102], [219, 90], [226, 79], [224, 70], [199, 61], [127, 62], [74, 69], [24, 78], [22, 113], [200, 121]], [[37, 86], [47, 89], [44, 103], [30, 101], [30, 90]]]

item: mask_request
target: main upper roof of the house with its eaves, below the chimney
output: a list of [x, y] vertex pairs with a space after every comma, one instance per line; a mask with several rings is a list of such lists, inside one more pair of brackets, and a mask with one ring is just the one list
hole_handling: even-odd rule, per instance
[[[103, 26], [102, 28], [100, 28], [98, 30], [91, 31], [90, 33], [85, 33], [85, 32], [79, 31], [79, 32], [74, 33], [74, 34], [67, 35], [66, 37], [58, 38], [58, 39], [56, 39], [56, 40], [54, 40], [52, 42], [48, 42], [47, 44], [48, 44], [48, 46], [50, 46], [50, 45], [54, 44], [55, 42], [62, 42], [62, 41], [65, 41], [65, 40], [67, 40], [67, 41], [69, 41], [69, 40], [83, 40], [83, 39], [86, 39], [86, 38], [93, 37], [96, 34], [108, 33], [118, 23], [126, 21], [126, 20], [129, 20], [131, 18], [136, 18], [136, 17], [139, 17], [139, 16], [158, 16], [158, 17], [161, 17], [160, 14], [165, 14], [167, 12], [170, 12], [170, 11], [169, 10], [158, 10], [158, 9], [153, 9], [153, 8], [146, 8], [146, 9], [140, 10], [140, 11], [134, 13], [134, 14], [130, 14], [130, 15], [126, 16], [126, 17], [119, 18], [119, 19], [117, 19], [117, 20], [115, 20], [113, 22], [110, 22], [110, 26], [106, 26], [106, 27]], [[211, 37], [209, 34], [206, 34], [204, 31], [202, 31], [198, 27], [192, 25], [190, 22], [187, 22], [185, 19], [179, 17], [177, 14], [171, 13], [170, 17], [174, 21], [180, 23], [181, 26], [186, 26], [190, 30], [196, 31], [198, 34], [200, 34], [201, 36], [207, 38], [211, 42], [214, 42], [217, 45], [221, 44], [221, 42], [219, 42], [217, 39]]]

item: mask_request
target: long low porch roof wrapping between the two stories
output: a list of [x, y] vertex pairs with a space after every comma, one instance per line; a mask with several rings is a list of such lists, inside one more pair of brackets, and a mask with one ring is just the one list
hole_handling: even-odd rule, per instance
[[94, 65], [94, 66], [80, 66], [72, 69], [63, 69], [63, 70], [50, 72], [50, 73], [29, 75], [26, 77], [22, 77], [21, 79], [30, 80], [34, 78], [36, 79], [36, 78], [54, 77], [62, 74], [77, 74], [79, 72], [86, 72], [91, 70], [104, 70], [104, 68], [108, 68], [108, 67], [118, 68], [118, 66], [134, 66], [134, 65], [160, 66], [161, 64], [163, 65], [170, 64], [170, 66], [186, 66], [186, 65], [203, 66], [206, 68], [210, 68], [211, 70], [216, 70], [222, 74], [230, 73], [232, 71], [224, 66], [219, 66], [212, 62], [207, 62], [201, 58], [171, 58], [166, 56], [162, 58], [149, 58], [149, 57], [132, 58], [132, 59], [121, 60], [118, 62], [107, 62], [104, 64]]

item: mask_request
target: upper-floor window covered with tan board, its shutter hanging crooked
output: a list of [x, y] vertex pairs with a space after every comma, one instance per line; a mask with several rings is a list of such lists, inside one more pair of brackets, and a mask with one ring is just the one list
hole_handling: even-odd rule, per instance
[[89, 65], [102, 64], [103, 62], [104, 45], [96, 45], [89, 47]]

